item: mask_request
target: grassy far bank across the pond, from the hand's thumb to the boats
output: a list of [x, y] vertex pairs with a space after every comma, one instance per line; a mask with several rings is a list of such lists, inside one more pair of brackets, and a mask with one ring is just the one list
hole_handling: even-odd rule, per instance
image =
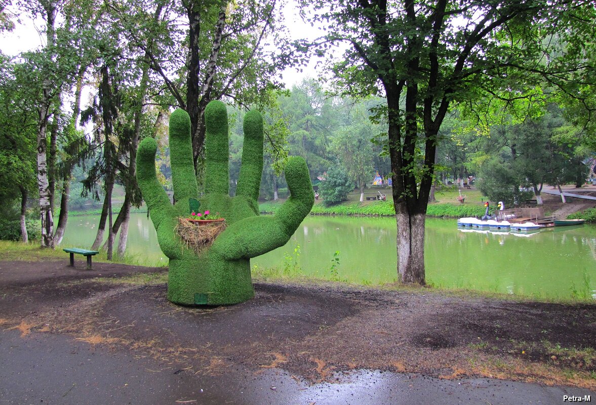
[[[316, 200], [312, 207], [311, 214], [327, 214], [327, 215], [379, 215], [379, 216], [393, 216], [395, 209], [393, 209], [393, 197], [391, 189], [367, 189], [364, 196], [375, 196], [378, 192], [386, 194], [386, 201], [379, 200], [364, 200], [360, 202], [360, 193], [353, 191], [348, 194], [347, 200], [343, 203], [325, 206], [322, 200]], [[478, 190], [466, 190], [465, 203], [462, 204], [457, 200], [460, 195], [457, 189], [438, 190], [435, 193], [437, 202], [429, 204], [427, 209], [428, 216], [461, 218], [462, 216], [482, 216], [485, 214], [483, 206], [486, 198], [482, 196]], [[284, 203], [284, 199], [277, 202], [265, 202], [259, 205], [260, 212], [267, 214], [275, 214]], [[496, 209], [491, 207], [491, 211]]]

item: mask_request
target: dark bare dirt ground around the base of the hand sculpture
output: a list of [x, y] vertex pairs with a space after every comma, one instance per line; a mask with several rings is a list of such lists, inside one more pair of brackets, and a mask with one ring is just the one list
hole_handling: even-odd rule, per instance
[[166, 300], [165, 269], [67, 261], [0, 262], [2, 329], [68, 335], [204, 375], [283, 369], [315, 383], [374, 369], [596, 390], [593, 304], [256, 284], [246, 303], [180, 307]]

